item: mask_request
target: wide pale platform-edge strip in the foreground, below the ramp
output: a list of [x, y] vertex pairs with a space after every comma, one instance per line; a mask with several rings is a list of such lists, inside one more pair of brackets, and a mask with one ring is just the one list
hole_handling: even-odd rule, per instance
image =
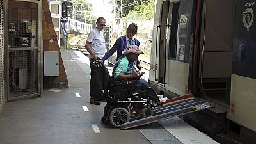
[[161, 124], [167, 131], [169, 131], [173, 136], [175, 136], [182, 143], [217, 144], [217, 142], [212, 140], [212, 138], [198, 131], [197, 129], [187, 124], [186, 122], [184, 122], [178, 117], [170, 118], [167, 120], [161, 120], [159, 121], [159, 124]]

